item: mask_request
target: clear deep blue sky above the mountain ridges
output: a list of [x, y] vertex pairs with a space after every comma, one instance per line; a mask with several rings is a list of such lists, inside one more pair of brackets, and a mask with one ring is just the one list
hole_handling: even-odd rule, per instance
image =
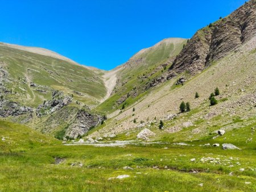
[[166, 37], [196, 30], [243, 0], [0, 0], [0, 41], [51, 49], [112, 69]]

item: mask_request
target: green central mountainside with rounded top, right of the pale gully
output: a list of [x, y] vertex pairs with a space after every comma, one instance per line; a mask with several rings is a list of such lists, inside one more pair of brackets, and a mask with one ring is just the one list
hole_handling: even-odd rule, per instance
[[187, 39], [164, 39], [153, 47], [142, 49], [125, 64], [110, 71], [116, 77], [116, 85], [111, 97], [96, 110], [114, 111], [121, 108], [123, 103], [126, 105], [137, 101], [154, 86], [152, 81], [159, 81], [158, 77], [167, 70], [186, 43]]

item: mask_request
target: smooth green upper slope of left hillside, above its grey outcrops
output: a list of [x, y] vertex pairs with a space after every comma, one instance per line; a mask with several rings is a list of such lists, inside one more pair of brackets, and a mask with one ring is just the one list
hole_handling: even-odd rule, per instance
[[[86, 104], [96, 104], [106, 94], [102, 77], [81, 65], [0, 44], [0, 62], [7, 72], [6, 98], [36, 107], [51, 98], [52, 90], [73, 94]], [[31, 83], [36, 86], [31, 86]]]

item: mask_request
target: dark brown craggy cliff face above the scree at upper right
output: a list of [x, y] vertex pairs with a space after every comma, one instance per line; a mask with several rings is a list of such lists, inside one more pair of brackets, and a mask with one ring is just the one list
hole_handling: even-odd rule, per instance
[[200, 72], [212, 61], [235, 51], [256, 34], [256, 1], [252, 0], [224, 19], [196, 32], [176, 57], [170, 73]]

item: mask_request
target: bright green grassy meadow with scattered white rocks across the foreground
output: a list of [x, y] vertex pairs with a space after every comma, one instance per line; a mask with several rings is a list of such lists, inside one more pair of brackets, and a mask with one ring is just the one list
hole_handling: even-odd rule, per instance
[[[7, 122], [0, 122], [0, 136], [5, 138], [0, 139], [0, 191], [256, 189], [256, 153], [252, 147], [224, 151], [200, 146], [197, 141], [185, 146], [64, 146], [30, 128]], [[200, 161], [203, 157], [214, 162]], [[123, 169], [125, 166], [133, 169]], [[130, 177], [113, 178], [123, 174]]]

